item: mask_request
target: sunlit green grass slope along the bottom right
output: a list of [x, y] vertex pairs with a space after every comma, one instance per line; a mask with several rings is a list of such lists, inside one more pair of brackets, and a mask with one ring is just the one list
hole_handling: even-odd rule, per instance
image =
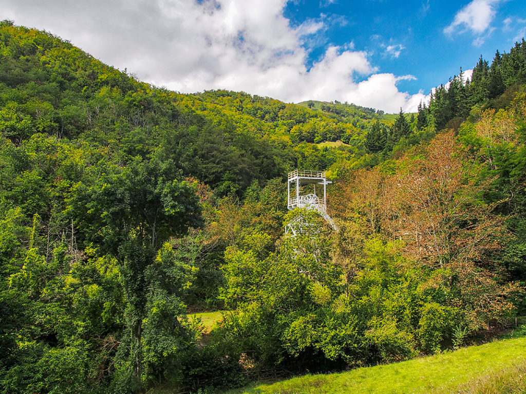
[[255, 384], [227, 393], [524, 393], [525, 371], [526, 337], [522, 337], [341, 374]]

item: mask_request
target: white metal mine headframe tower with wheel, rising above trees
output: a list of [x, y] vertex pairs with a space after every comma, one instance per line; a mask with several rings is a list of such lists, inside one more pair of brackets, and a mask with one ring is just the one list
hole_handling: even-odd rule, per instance
[[[308, 208], [319, 212], [333, 229], [335, 223], [327, 213], [327, 181], [325, 171], [295, 170], [289, 172], [287, 184], [287, 205], [289, 210]], [[318, 188], [316, 188], [318, 186]], [[323, 192], [320, 190], [323, 187]], [[290, 231], [295, 234], [294, 226]]]

